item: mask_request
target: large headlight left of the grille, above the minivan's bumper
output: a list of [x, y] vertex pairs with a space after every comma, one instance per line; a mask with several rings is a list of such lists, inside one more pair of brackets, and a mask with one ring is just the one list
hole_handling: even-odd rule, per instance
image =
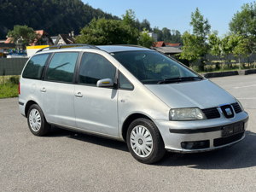
[[173, 108], [170, 110], [170, 120], [202, 120], [207, 119], [200, 108]]

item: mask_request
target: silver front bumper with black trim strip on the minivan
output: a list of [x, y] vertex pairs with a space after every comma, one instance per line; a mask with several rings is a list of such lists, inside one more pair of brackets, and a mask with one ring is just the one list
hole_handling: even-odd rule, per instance
[[[206, 119], [195, 121], [164, 121], [155, 120], [167, 151], [177, 153], [198, 153], [218, 148], [229, 147], [240, 142], [247, 129], [248, 114], [241, 112], [236, 114], [234, 119], [225, 119], [221, 116], [218, 119]], [[244, 131], [234, 133], [229, 137], [223, 137], [223, 128], [227, 125], [243, 123]], [[239, 135], [238, 135], [239, 134]], [[208, 141], [207, 148], [185, 149], [181, 147], [183, 142]]]

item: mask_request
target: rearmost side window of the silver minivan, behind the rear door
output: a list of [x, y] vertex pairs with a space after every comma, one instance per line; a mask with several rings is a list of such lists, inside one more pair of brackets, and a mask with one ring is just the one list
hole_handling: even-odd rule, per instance
[[26, 64], [22, 77], [27, 79], [41, 79], [48, 57], [49, 54], [33, 56]]

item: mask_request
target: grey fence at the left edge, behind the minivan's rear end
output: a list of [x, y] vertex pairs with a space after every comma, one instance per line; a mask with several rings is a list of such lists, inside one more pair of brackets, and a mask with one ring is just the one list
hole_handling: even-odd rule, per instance
[[0, 58], [1, 75], [20, 75], [27, 58]]

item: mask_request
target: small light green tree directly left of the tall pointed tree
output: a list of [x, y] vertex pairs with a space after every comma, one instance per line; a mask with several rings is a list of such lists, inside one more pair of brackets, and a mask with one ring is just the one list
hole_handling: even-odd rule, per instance
[[201, 48], [199, 44], [199, 38], [194, 35], [190, 34], [190, 32], [183, 33], [183, 52], [179, 55], [180, 59], [185, 59], [189, 61], [189, 67], [193, 67], [193, 61], [198, 60], [201, 58]]

